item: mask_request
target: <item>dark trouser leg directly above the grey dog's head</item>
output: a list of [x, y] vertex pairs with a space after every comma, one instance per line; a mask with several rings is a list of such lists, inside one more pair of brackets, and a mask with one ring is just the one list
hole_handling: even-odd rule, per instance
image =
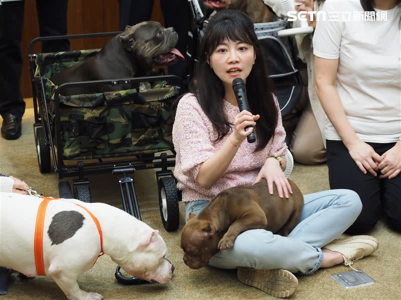
[[119, 29], [148, 21], [152, 15], [153, 0], [119, 0]]

